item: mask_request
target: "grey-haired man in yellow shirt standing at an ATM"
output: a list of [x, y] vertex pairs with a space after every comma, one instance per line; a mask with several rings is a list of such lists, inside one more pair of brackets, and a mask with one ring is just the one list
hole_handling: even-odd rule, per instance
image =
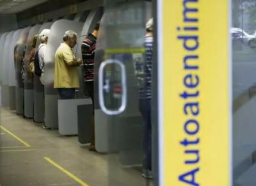
[[63, 43], [55, 54], [54, 88], [57, 88], [61, 99], [74, 99], [75, 89], [79, 88], [79, 73], [77, 66], [82, 60], [76, 59], [72, 48], [76, 45], [77, 34], [66, 31]]

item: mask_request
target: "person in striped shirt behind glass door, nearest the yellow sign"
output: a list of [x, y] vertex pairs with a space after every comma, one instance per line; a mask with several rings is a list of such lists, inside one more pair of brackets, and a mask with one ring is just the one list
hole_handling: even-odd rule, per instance
[[145, 35], [144, 60], [136, 62], [136, 75], [139, 82], [139, 110], [144, 121], [143, 134], [143, 174], [147, 179], [152, 179], [152, 125], [151, 125], [151, 95], [152, 95], [152, 54], [153, 54], [153, 27], [154, 20], [148, 20]]

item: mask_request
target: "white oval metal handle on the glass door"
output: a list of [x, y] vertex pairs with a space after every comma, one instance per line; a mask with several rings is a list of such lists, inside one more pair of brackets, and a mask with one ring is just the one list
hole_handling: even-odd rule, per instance
[[[122, 104], [118, 109], [116, 110], [109, 110], [104, 102], [104, 90], [109, 88], [109, 84], [104, 86], [104, 68], [106, 68], [107, 65], [118, 65], [121, 69], [121, 77], [122, 77]], [[127, 84], [126, 84], [126, 73], [125, 73], [125, 66], [122, 62], [116, 60], [116, 59], [108, 59], [106, 61], [103, 61], [99, 68], [99, 104], [100, 108], [103, 112], [105, 112], [108, 115], [117, 115], [122, 112], [124, 112], [125, 107], [127, 105]]]

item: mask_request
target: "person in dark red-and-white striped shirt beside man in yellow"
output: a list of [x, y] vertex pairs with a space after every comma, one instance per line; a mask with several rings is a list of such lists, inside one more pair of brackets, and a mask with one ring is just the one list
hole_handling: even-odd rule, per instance
[[93, 33], [88, 34], [82, 43], [82, 57], [84, 70], [84, 85], [88, 91], [88, 96], [92, 98], [93, 118], [92, 118], [92, 141], [89, 150], [95, 150], [95, 125], [94, 125], [94, 56], [99, 32], [100, 23], [98, 22]]

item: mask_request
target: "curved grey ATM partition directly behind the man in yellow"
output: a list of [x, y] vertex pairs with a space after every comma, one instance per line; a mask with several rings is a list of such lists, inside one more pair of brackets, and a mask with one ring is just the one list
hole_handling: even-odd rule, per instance
[[[83, 22], [72, 20], [56, 20], [51, 26], [51, 33], [46, 47], [45, 57], [45, 126], [58, 128], [58, 99], [57, 89], [54, 89], [54, 55], [60, 43], [63, 42], [65, 31], [72, 29], [77, 33], [77, 38], [83, 28]], [[76, 48], [73, 49], [76, 54]]]

